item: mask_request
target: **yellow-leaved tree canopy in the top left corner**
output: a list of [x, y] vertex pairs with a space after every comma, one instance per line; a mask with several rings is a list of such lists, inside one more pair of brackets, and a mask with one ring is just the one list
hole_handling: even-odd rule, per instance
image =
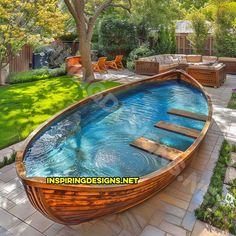
[[[67, 16], [57, 5], [57, 0], [0, 1], [0, 71], [23, 45], [52, 40], [63, 32]], [[0, 73], [0, 84], [3, 79]]]

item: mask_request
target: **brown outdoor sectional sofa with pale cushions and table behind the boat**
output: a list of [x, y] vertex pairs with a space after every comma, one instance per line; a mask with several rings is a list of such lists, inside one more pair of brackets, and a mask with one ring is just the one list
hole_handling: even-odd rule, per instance
[[202, 55], [164, 54], [140, 58], [135, 62], [135, 72], [154, 75], [172, 69], [182, 69], [204, 86], [218, 88], [226, 74], [236, 74], [236, 58]]

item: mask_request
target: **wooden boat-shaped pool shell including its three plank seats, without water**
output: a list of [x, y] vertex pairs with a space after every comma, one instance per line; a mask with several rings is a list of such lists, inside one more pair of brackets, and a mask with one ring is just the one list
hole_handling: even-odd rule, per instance
[[[28, 137], [22, 151], [17, 153], [16, 169], [32, 205], [55, 222], [62, 224], [79, 224], [131, 208], [152, 197], [158, 191], [169, 185], [190, 163], [210, 127], [212, 120], [212, 103], [203, 87], [185, 72], [177, 70], [159, 74], [142, 81], [121, 85], [99, 94], [101, 98], [101, 96], [104, 97], [107, 94], [116, 93], [138, 85], [145, 85], [152, 82], [161, 84], [164, 81], [176, 79], [190, 84], [203, 94], [206, 104], [208, 105], [208, 115], [198, 115], [178, 109], [172, 109], [169, 113], [172, 114], [172, 116], [183, 116], [202, 120], [204, 121], [203, 128], [199, 131], [189, 128], [183, 129], [183, 127], [161, 121], [156, 124], [154, 123], [153, 129], [165, 129], [171, 131], [170, 134], [174, 132], [195, 138], [195, 141], [186, 151], [179, 151], [171, 147], [168, 148], [165, 145], [158, 144], [143, 137], [133, 140], [130, 144], [134, 146], [134, 148], [163, 156], [167, 158], [169, 162], [166, 166], [141, 176], [137, 184], [131, 185], [49, 185], [46, 183], [45, 177], [28, 177], [24, 159], [30, 145], [43, 131], [55, 123], [58, 118], [74, 109], [84, 106], [98, 97], [98, 95], [90, 96], [63, 110], [52, 119], [42, 124]], [[143, 107], [143, 109], [145, 109], [145, 107]]]

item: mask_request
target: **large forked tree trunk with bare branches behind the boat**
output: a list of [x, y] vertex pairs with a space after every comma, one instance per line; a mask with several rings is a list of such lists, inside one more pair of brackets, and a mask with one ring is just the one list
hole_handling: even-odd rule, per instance
[[109, 7], [131, 9], [131, 0], [64, 0], [73, 16], [79, 35], [84, 81], [94, 80], [91, 61], [91, 40], [98, 17]]

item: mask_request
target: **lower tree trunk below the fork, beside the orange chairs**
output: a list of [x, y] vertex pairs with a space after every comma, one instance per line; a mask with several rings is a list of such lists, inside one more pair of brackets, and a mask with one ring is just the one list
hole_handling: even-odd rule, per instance
[[95, 79], [91, 60], [91, 42], [87, 39], [80, 39], [79, 43], [83, 66], [83, 81], [91, 82]]

